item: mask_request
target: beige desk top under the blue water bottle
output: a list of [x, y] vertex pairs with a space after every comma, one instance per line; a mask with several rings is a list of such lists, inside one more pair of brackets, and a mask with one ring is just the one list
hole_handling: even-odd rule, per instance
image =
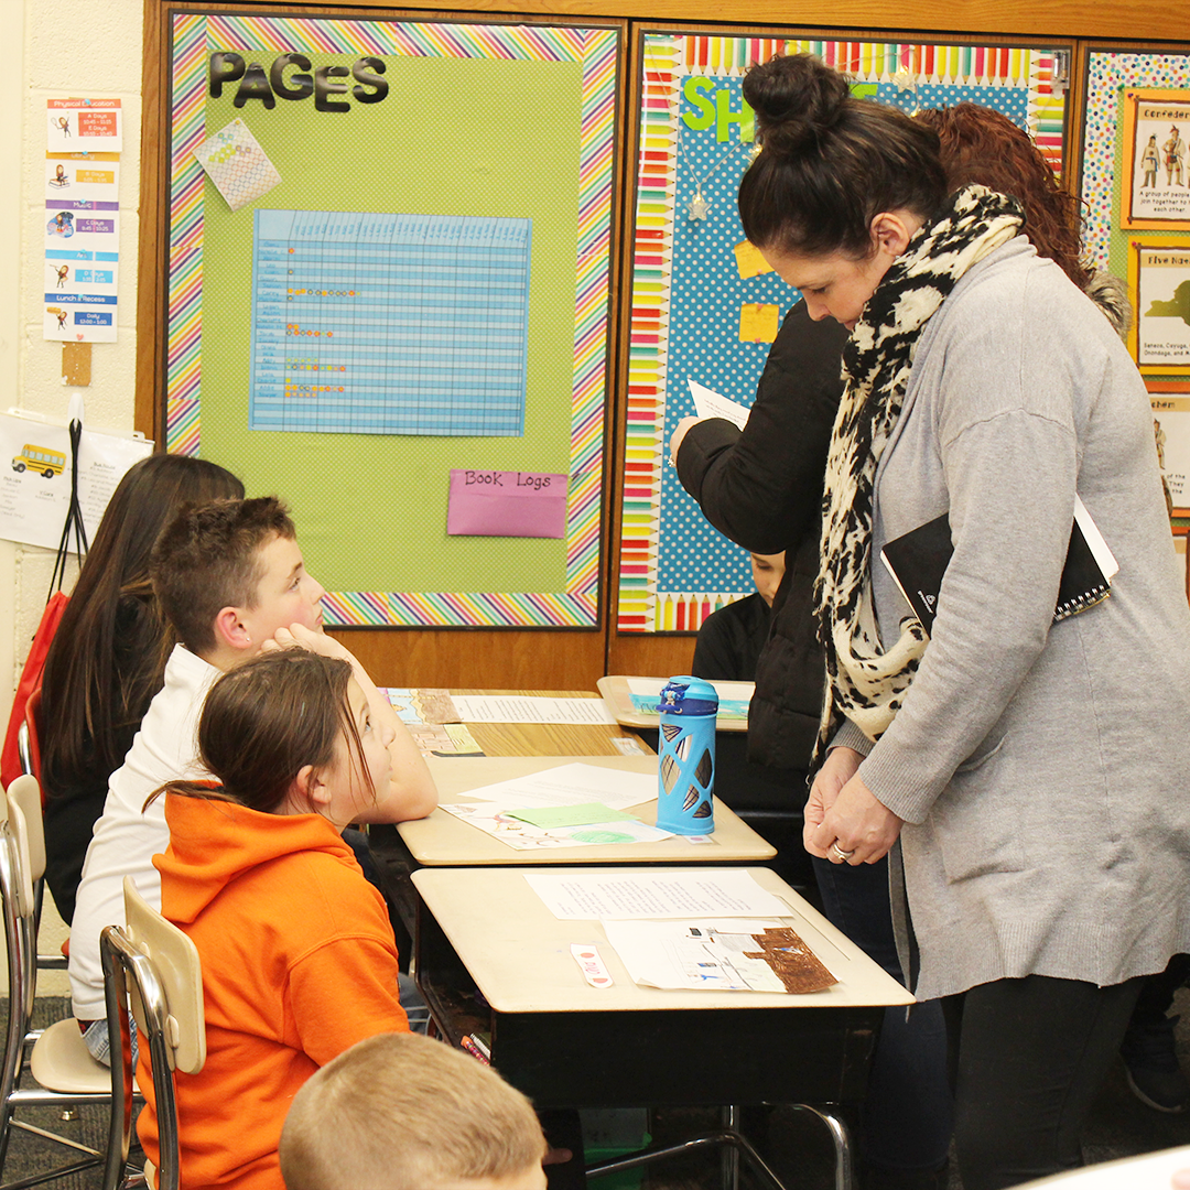
[[[522, 777], [563, 764], [596, 764], [626, 772], [657, 772], [656, 756], [484, 756], [428, 757], [426, 763], [438, 784], [439, 801], [462, 802], [469, 789]], [[657, 802], [641, 802], [627, 813], [644, 822], [657, 820]], [[499, 839], [436, 809], [428, 818], [397, 826], [405, 845], [419, 864], [715, 864], [771, 859], [776, 848], [756, 833], [729, 807], [715, 798], [714, 843], [691, 844], [675, 835], [659, 843], [618, 843], [587, 847], [551, 847], [518, 851]]]

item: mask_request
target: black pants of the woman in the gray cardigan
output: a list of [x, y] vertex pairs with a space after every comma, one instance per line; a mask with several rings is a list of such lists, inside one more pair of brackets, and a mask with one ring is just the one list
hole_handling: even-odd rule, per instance
[[1002, 1190], [1083, 1164], [1079, 1133], [1141, 983], [1031, 975], [942, 1001], [964, 1190]]

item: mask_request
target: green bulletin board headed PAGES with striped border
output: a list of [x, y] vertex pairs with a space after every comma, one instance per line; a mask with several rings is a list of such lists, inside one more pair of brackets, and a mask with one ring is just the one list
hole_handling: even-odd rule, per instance
[[[287, 497], [331, 625], [594, 628], [622, 26], [170, 19], [169, 449]], [[451, 536], [452, 470], [563, 536]]]

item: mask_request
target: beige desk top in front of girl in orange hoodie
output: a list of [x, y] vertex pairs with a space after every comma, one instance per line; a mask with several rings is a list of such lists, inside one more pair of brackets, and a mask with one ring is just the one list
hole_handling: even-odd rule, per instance
[[[850, 1008], [914, 1002], [904, 988], [766, 868], [746, 871], [789, 906], [783, 921], [839, 981], [833, 988], [804, 996], [640, 988], [632, 982], [597, 921], [563, 921], [553, 916], [525, 879], [533, 871], [532, 868], [422, 868], [413, 873], [426, 908], [496, 1012]], [[633, 869], [622, 871], [626, 876], [634, 873]], [[615, 873], [615, 869], [609, 869], [602, 875]], [[614, 981], [610, 988], [593, 988], [585, 982], [570, 956], [572, 942], [600, 947]]]

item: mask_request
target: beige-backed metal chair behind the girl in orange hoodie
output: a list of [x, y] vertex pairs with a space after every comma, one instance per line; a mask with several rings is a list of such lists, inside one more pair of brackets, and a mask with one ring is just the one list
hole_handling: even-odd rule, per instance
[[[196, 1075], [207, 1060], [202, 1014], [202, 967], [194, 942], [168, 922], [124, 878], [126, 927], [108, 926], [100, 935], [107, 1027], [112, 1038], [112, 1126], [107, 1145], [104, 1190], [149, 1185], [177, 1190], [177, 1100], [174, 1071]], [[145, 1163], [143, 1176], [126, 1177], [132, 1140], [132, 1031], [138, 1045], [149, 1047], [159, 1167]], [[119, 1036], [119, 1051], [115, 1038]], [[117, 1063], [117, 1053], [120, 1060]], [[0, 1188], [2, 1190], [2, 1188]]]

